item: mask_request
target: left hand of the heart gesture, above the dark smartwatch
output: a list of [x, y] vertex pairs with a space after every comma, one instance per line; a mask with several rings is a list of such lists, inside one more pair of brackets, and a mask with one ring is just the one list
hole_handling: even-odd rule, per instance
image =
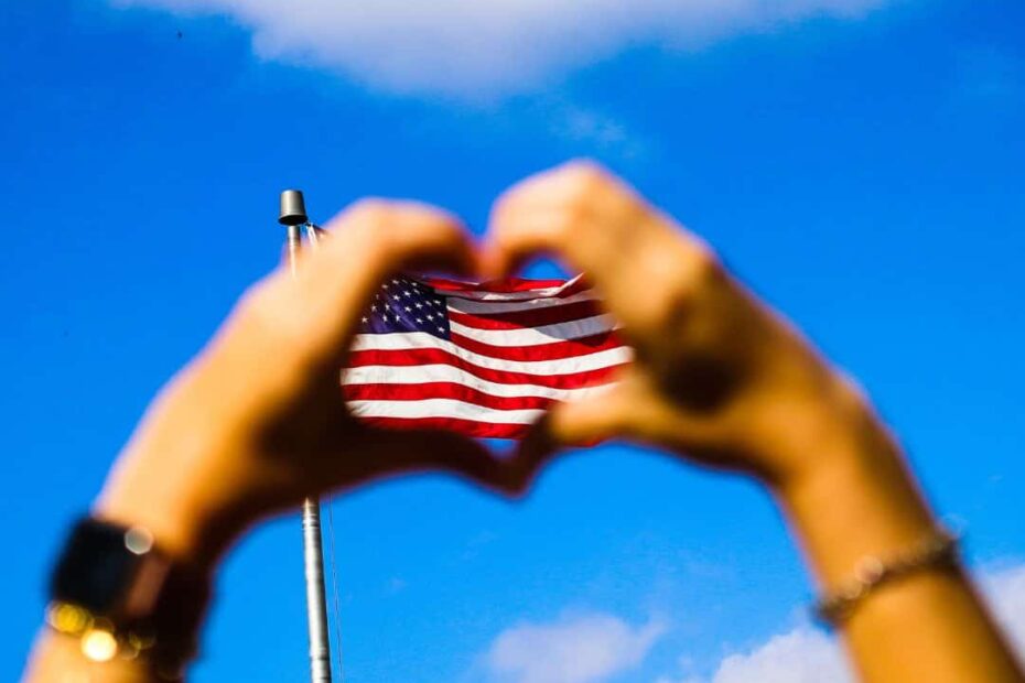
[[404, 267], [472, 270], [463, 229], [436, 209], [384, 202], [356, 204], [328, 228], [298, 277], [282, 268], [256, 284], [164, 389], [98, 514], [148, 527], [169, 552], [207, 562], [247, 524], [304, 496], [413, 470], [509, 485], [503, 463], [470, 440], [356, 422], [339, 388], [380, 281]]

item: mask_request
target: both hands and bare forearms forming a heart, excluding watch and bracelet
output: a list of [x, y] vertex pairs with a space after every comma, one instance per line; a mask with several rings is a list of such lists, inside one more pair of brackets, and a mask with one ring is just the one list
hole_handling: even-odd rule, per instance
[[[308, 495], [416, 470], [517, 494], [558, 451], [622, 437], [758, 477], [826, 586], [849, 586], [866, 560], [881, 566], [936, 533], [856, 387], [703, 242], [603, 170], [571, 163], [514, 186], [481, 247], [450, 215], [410, 203], [360, 202], [330, 227], [296, 278], [280, 269], [255, 285], [154, 401], [97, 516], [145, 527], [164, 552], [213, 571], [247, 525]], [[555, 405], [509, 459], [347, 413], [339, 370], [381, 280], [421, 267], [498, 278], [540, 253], [585, 271], [622, 323], [635, 361], [611, 393]], [[865, 681], [1023, 680], [960, 571], [920, 567], [870, 593], [844, 625]], [[83, 670], [78, 648], [44, 640], [30, 679]], [[149, 680], [138, 661], [125, 666], [123, 680]]]

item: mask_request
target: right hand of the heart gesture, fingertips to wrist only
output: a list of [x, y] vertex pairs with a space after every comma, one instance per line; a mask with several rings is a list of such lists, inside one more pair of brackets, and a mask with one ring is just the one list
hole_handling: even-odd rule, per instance
[[636, 349], [611, 393], [552, 409], [525, 442], [524, 467], [622, 436], [781, 484], [866, 414], [860, 393], [705, 243], [596, 165], [570, 163], [506, 192], [486, 249], [492, 277], [541, 252], [584, 271]]

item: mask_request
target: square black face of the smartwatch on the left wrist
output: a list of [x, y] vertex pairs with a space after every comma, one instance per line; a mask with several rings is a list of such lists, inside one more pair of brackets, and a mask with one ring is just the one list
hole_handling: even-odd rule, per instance
[[126, 545], [126, 530], [86, 519], [75, 525], [51, 579], [51, 595], [62, 603], [109, 615], [139, 571], [143, 556]]

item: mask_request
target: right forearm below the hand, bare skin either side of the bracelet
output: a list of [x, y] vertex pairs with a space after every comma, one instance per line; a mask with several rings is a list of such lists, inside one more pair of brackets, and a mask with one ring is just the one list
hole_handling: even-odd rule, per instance
[[[893, 557], [938, 522], [904, 458], [862, 406], [778, 497], [824, 590], [866, 556]], [[960, 567], [934, 566], [878, 586], [844, 621], [855, 666], [871, 683], [1013, 683], [1021, 669]]]

